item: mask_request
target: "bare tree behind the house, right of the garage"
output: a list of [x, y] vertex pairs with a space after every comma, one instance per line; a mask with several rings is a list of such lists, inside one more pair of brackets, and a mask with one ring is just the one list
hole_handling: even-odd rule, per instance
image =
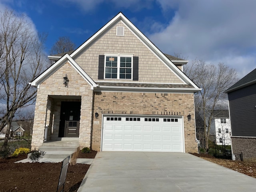
[[237, 81], [236, 70], [223, 63], [214, 65], [194, 60], [190, 66], [184, 68], [184, 72], [202, 88], [195, 95], [195, 110], [204, 121], [205, 149], [208, 151], [213, 110], [228, 99], [224, 91]]

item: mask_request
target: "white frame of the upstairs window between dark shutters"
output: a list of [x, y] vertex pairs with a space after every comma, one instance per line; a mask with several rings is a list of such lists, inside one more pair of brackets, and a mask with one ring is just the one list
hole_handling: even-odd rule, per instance
[[[104, 79], [120, 79], [120, 80], [132, 80], [133, 77], [133, 55], [129, 54], [104, 54]], [[106, 58], [107, 57], [117, 57], [117, 78], [106, 78]], [[120, 58], [121, 57], [130, 57], [131, 58], [131, 78], [130, 79], [123, 79], [120, 78]], [[127, 68], [127, 67], [126, 67]]]

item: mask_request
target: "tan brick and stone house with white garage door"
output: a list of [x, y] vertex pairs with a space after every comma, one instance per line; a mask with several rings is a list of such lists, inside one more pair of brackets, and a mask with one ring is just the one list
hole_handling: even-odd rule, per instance
[[197, 152], [200, 88], [182, 72], [188, 61], [163, 54], [122, 13], [74, 52], [49, 58], [56, 62], [31, 82], [32, 148], [76, 137], [96, 151]]

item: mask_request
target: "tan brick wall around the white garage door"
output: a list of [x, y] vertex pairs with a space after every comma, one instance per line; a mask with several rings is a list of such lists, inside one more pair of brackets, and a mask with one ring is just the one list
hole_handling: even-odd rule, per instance
[[[93, 150], [100, 151], [102, 114], [140, 114], [184, 116], [185, 152], [198, 152], [193, 94], [95, 92], [95, 112], [99, 113], [99, 124], [93, 125]], [[188, 121], [188, 114], [191, 114], [191, 121]]]

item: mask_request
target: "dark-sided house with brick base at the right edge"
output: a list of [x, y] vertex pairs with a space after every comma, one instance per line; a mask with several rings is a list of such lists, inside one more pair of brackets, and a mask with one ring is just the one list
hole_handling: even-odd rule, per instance
[[256, 157], [256, 69], [226, 90], [228, 93], [232, 152]]

